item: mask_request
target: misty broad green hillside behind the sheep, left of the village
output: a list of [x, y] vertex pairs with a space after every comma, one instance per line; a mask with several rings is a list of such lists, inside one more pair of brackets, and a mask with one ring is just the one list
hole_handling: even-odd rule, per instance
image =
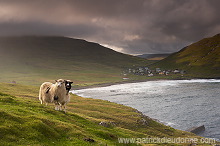
[[147, 63], [80, 39], [0, 37], [0, 82], [39, 85], [58, 78], [75, 84], [115, 82], [122, 80], [124, 68]]

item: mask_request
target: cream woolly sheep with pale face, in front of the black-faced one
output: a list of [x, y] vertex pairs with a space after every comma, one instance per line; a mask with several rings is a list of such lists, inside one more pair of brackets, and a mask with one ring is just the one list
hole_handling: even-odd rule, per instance
[[69, 94], [66, 94], [65, 87], [66, 80], [59, 79], [56, 80], [55, 84], [50, 82], [44, 82], [40, 86], [39, 91], [39, 100], [41, 104], [46, 103], [54, 103], [55, 110], [61, 110], [62, 106], [64, 106], [64, 111], [66, 111], [66, 103], [70, 101]]

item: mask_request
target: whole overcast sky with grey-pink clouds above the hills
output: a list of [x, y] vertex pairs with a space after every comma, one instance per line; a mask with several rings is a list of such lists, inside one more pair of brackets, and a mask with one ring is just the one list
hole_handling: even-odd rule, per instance
[[127, 54], [172, 53], [220, 33], [220, 0], [0, 0], [0, 35], [66, 36]]

